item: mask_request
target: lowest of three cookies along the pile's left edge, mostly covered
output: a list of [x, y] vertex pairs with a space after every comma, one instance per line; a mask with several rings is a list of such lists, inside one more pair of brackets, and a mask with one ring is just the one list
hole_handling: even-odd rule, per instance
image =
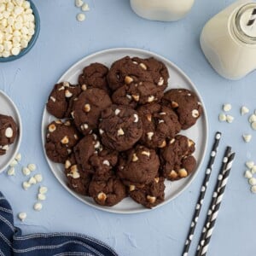
[[65, 174], [70, 189], [81, 195], [88, 195], [91, 176], [82, 171], [74, 154], [71, 154], [65, 162]]

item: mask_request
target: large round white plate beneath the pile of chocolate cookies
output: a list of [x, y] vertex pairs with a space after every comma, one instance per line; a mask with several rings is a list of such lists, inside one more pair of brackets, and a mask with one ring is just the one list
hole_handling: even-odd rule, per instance
[[[200, 101], [202, 102], [201, 96], [195, 88], [195, 85], [189, 80], [189, 78], [178, 68], [176, 67], [171, 61], [166, 60], [165, 58], [161, 57], [160, 55], [156, 55], [154, 53], [142, 50], [142, 49], [127, 49], [127, 48], [119, 48], [119, 49], [107, 49], [100, 52], [97, 52], [93, 55], [89, 55], [84, 57], [81, 61], [78, 61], [70, 67], [66, 73], [64, 73], [59, 79], [58, 83], [62, 81], [68, 81], [71, 84], [78, 83], [79, 74], [82, 73], [82, 70], [85, 66], [90, 65], [93, 62], [101, 62], [107, 67], [113, 63], [113, 61], [118, 60], [119, 58], [124, 57], [125, 55], [130, 56], [138, 56], [141, 58], [148, 58], [154, 57], [160, 61], [163, 61], [168, 67], [170, 73], [169, 79], [169, 87], [171, 88], [186, 88], [195, 92], [195, 94], [199, 97]], [[203, 104], [203, 102], [202, 102]], [[204, 104], [203, 104], [204, 105]], [[46, 134], [46, 126], [54, 120], [55, 118], [51, 116], [46, 109], [44, 108], [44, 115], [42, 120], [42, 137], [43, 137], [43, 145], [45, 143], [45, 134]], [[191, 127], [187, 131], [182, 131], [181, 133], [191, 139], [193, 139], [196, 143], [196, 150], [195, 150], [195, 159], [197, 160], [197, 167], [196, 171], [189, 177], [181, 179], [177, 182], [170, 182], [166, 181], [166, 201], [160, 204], [158, 207], [166, 204], [169, 201], [172, 201], [177, 195], [183, 192], [184, 189], [188, 188], [189, 184], [195, 178], [196, 174], [200, 171], [202, 160], [204, 159], [204, 155], [207, 148], [207, 113], [206, 109], [204, 108], [204, 113], [201, 116], [193, 127]], [[45, 154], [45, 151], [44, 151]], [[46, 156], [46, 154], [45, 154]], [[80, 201], [83, 201], [85, 204], [90, 205], [91, 207], [96, 207], [103, 211], [108, 212], [118, 212], [118, 213], [134, 213], [134, 212], [144, 212], [148, 211], [141, 205], [137, 204], [135, 201], [132, 201], [131, 198], [125, 198], [125, 200], [119, 202], [118, 205], [113, 207], [101, 207], [97, 205], [90, 197], [79, 195], [73, 192], [71, 189], [67, 187], [67, 179], [63, 172], [63, 165], [55, 164], [51, 160], [48, 159], [49, 167], [51, 171], [55, 174], [55, 177], [59, 180], [59, 182], [63, 185], [67, 191], [69, 191], [72, 195], [78, 198]]]

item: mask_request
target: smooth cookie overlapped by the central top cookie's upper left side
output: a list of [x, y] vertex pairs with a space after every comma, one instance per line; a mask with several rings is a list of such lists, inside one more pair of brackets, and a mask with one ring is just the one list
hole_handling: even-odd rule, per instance
[[87, 135], [96, 129], [101, 111], [111, 104], [111, 99], [105, 90], [98, 88], [84, 90], [74, 102], [71, 113], [79, 131]]

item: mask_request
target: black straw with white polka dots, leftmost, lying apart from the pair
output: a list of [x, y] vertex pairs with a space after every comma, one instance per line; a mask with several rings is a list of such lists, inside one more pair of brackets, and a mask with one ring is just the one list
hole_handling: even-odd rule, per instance
[[198, 201], [196, 203], [194, 216], [192, 218], [192, 222], [191, 222], [190, 228], [189, 228], [189, 233], [188, 233], [188, 236], [187, 236], [187, 239], [185, 241], [184, 248], [183, 248], [183, 254], [182, 254], [183, 256], [188, 256], [189, 255], [189, 247], [191, 245], [191, 241], [192, 241], [194, 233], [195, 233], [195, 226], [197, 224], [197, 220], [198, 220], [199, 214], [201, 212], [201, 206], [202, 206], [202, 203], [203, 203], [205, 195], [206, 195], [208, 182], [209, 182], [209, 178], [211, 177], [212, 166], [213, 166], [213, 163], [214, 163], [214, 160], [215, 160], [215, 156], [217, 154], [218, 143], [219, 143], [220, 138], [221, 138], [221, 132], [218, 131], [215, 134], [215, 140], [214, 140], [214, 143], [213, 143], [213, 146], [212, 146], [210, 159], [209, 159], [208, 164], [207, 164], [207, 171], [206, 171], [206, 174], [205, 174], [202, 186], [201, 186], [201, 192], [200, 192]]

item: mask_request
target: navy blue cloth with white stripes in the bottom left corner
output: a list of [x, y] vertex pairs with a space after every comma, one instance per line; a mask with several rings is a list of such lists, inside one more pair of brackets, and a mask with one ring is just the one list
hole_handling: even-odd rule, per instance
[[14, 226], [9, 202], [0, 192], [0, 256], [117, 256], [111, 247], [89, 236], [75, 233], [22, 236]]

